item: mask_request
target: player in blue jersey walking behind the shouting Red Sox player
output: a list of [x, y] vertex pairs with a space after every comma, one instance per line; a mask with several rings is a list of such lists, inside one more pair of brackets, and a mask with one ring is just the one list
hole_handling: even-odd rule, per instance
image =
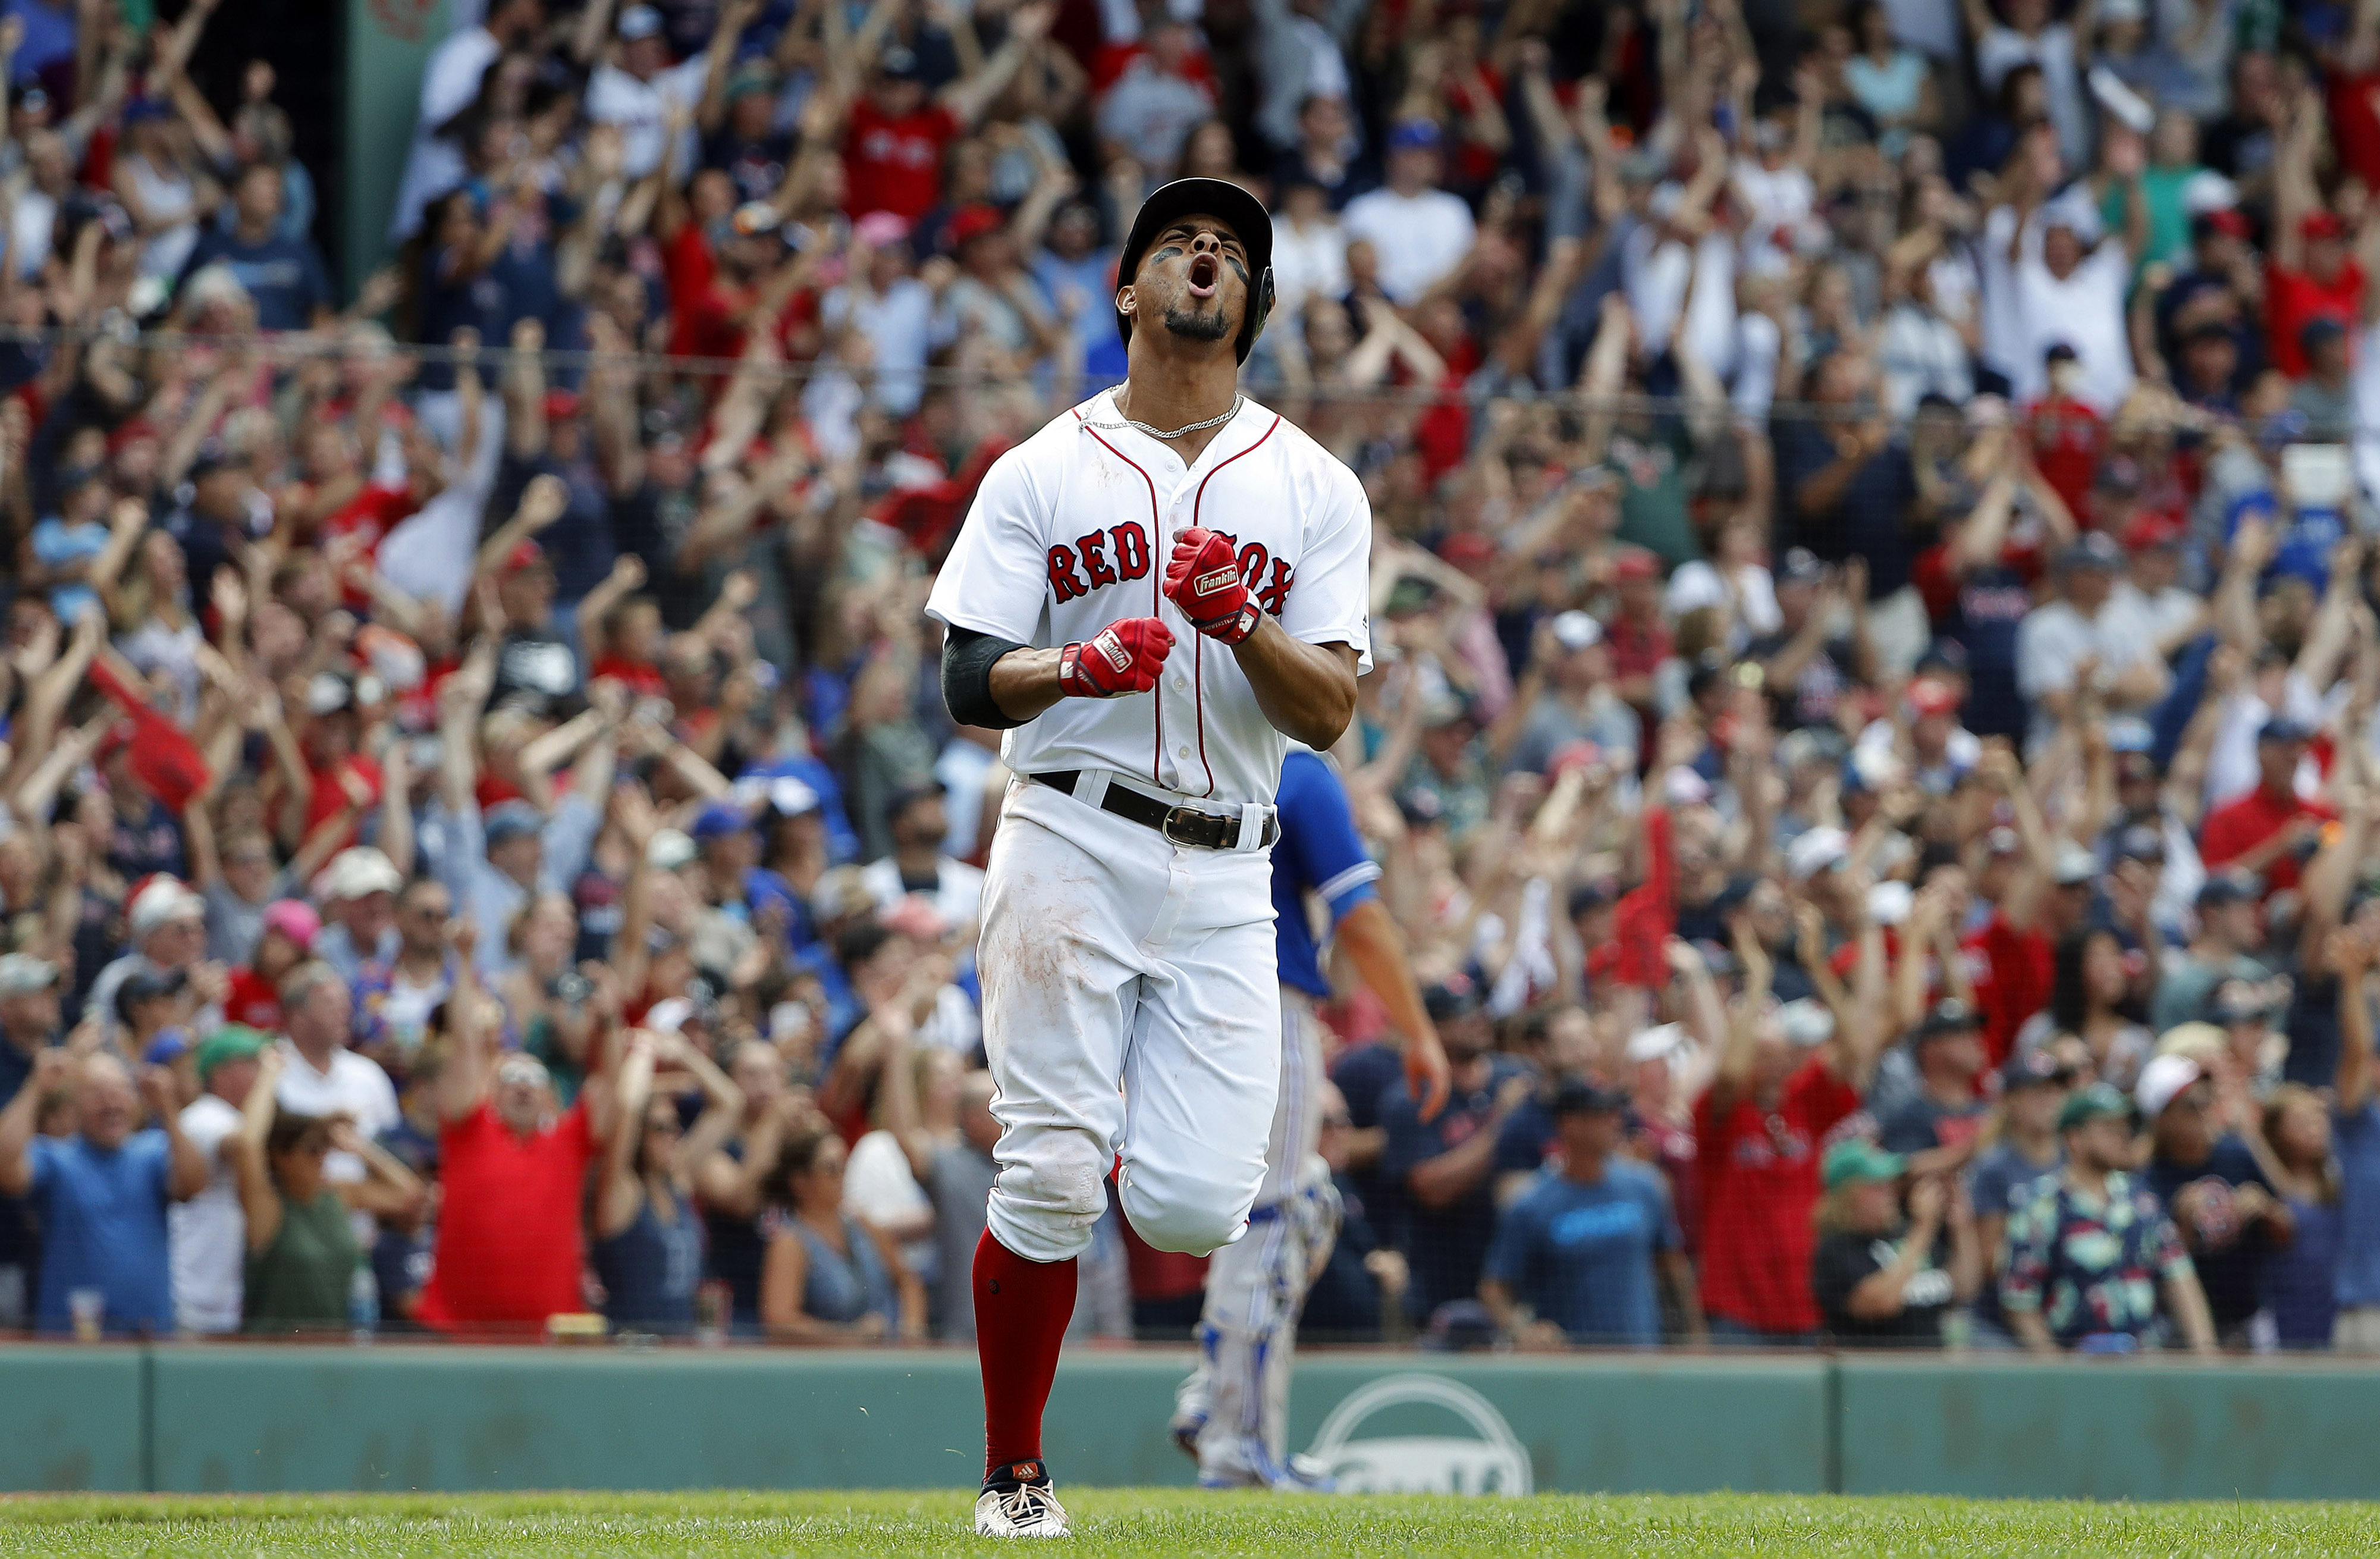
[[[1330, 997], [1314, 945], [1307, 895], [1323, 902], [1330, 928], [1364, 983], [1388, 1007], [1390, 1023], [1414, 1035], [1445, 1100], [1438, 1028], [1404, 962], [1404, 938], [1373, 890], [1380, 869], [1364, 854], [1347, 790], [1330, 759], [1292, 747], [1280, 764], [1280, 843], [1273, 845], [1273, 947], [1280, 964], [1280, 1097], [1264, 1185], [1245, 1240], [1214, 1252], [1200, 1361], [1173, 1397], [1173, 1440], [1197, 1457], [1202, 1488], [1276, 1488], [1326, 1492], [1330, 1478], [1288, 1454], [1290, 1354], [1307, 1288], [1330, 1259], [1340, 1202], [1321, 1140], [1323, 1045], [1314, 1002]], [[1430, 1062], [1428, 1057], [1438, 1057]]]

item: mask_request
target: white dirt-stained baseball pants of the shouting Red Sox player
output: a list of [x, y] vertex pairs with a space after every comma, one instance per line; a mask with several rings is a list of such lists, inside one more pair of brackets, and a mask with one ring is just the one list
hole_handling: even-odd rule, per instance
[[1121, 1157], [1157, 1250], [1247, 1228], [1280, 1076], [1269, 850], [1197, 850], [1012, 781], [983, 883], [990, 1231], [1028, 1261], [1090, 1245]]

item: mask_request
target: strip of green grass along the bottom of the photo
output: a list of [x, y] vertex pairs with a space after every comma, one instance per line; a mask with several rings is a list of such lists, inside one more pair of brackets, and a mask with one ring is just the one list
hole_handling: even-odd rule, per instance
[[[0, 1554], [976, 1554], [959, 1492], [0, 1497]], [[1083, 1554], [2370, 1554], [2373, 1504], [1756, 1495], [1283, 1499], [1073, 1490]]]

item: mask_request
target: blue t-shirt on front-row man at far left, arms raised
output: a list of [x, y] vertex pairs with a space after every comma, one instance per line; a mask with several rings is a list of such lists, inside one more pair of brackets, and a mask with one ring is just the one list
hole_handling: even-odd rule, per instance
[[33, 1323], [67, 1331], [67, 1295], [107, 1295], [107, 1331], [174, 1326], [174, 1281], [164, 1254], [167, 1173], [162, 1131], [136, 1131], [121, 1147], [83, 1138], [33, 1138], [33, 1214], [40, 1219], [40, 1300]]

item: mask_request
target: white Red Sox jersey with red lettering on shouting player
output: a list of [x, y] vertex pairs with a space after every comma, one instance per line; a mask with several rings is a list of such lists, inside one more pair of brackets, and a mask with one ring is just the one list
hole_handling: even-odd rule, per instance
[[1371, 669], [1371, 502], [1354, 471], [1254, 400], [1183, 464], [1102, 390], [992, 464], [926, 614], [1035, 650], [1157, 616], [1173, 655], [1152, 693], [1064, 697], [1009, 731], [1009, 769], [1111, 769], [1219, 807], [1273, 800], [1290, 740], [1230, 647], [1164, 597], [1173, 536], [1190, 526], [1233, 540], [1240, 576], [1290, 636], [1354, 645]]

